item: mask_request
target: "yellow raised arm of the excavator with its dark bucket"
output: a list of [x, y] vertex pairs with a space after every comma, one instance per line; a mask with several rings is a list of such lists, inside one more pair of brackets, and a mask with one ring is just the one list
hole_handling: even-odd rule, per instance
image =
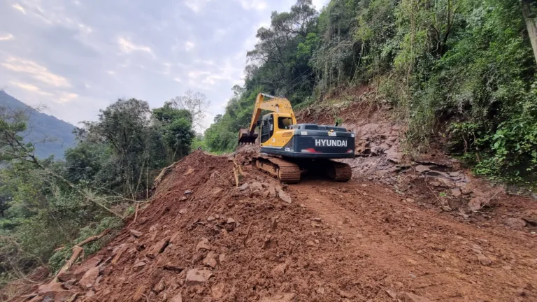
[[[270, 98], [270, 100], [265, 101], [265, 97]], [[257, 138], [255, 127], [257, 127], [257, 121], [259, 120], [259, 117], [261, 117], [262, 110], [290, 116], [293, 120], [293, 124], [296, 124], [296, 117], [294, 116], [293, 108], [288, 99], [278, 98], [268, 94], [257, 94], [250, 127], [239, 131], [238, 143], [255, 143]]]

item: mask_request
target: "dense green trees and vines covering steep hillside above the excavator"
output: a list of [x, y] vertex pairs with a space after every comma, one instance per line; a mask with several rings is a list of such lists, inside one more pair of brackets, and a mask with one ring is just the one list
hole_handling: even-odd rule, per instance
[[519, 0], [331, 0], [320, 14], [299, 0], [257, 38], [208, 148], [234, 148], [258, 92], [300, 108], [371, 85], [418, 150], [445, 137], [476, 173], [535, 179], [536, 63]]

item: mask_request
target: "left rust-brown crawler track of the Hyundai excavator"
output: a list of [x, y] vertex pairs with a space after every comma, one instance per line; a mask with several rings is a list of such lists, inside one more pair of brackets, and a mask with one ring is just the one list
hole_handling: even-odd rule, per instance
[[294, 184], [300, 182], [300, 167], [291, 161], [278, 157], [256, 157], [255, 166], [278, 178], [280, 182]]

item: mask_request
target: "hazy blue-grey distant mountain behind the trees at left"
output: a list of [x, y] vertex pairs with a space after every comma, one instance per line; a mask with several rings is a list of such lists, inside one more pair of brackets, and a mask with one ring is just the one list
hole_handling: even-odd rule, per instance
[[[3, 90], [0, 90], [0, 107], [11, 110], [24, 110], [29, 108], [25, 103], [15, 99]], [[34, 143], [36, 155], [40, 158], [54, 155], [56, 159], [63, 159], [64, 152], [76, 145], [73, 129], [75, 126], [58, 120], [52, 115], [31, 112], [29, 119], [29, 131], [24, 134], [24, 141]]]

